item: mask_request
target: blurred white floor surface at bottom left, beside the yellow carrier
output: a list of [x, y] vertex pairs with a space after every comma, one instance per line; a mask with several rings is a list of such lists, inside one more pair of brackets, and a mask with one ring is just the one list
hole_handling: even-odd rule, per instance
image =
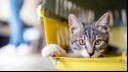
[[0, 71], [55, 71], [48, 58], [40, 55], [0, 57]]

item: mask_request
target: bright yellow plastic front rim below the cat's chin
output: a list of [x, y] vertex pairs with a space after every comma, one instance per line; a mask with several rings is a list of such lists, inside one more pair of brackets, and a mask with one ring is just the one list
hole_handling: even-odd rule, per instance
[[106, 58], [68, 58], [58, 57], [55, 63], [56, 69], [63, 71], [125, 71], [126, 63], [122, 56]]

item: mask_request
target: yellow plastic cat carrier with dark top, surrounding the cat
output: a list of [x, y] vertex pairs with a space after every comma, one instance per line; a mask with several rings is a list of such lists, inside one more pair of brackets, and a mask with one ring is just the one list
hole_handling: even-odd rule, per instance
[[[90, 23], [111, 11], [110, 45], [127, 49], [127, 0], [43, 0], [39, 15], [44, 24], [46, 44], [69, 46], [67, 17], [75, 14]], [[127, 55], [100, 58], [50, 57], [61, 71], [126, 71]]]

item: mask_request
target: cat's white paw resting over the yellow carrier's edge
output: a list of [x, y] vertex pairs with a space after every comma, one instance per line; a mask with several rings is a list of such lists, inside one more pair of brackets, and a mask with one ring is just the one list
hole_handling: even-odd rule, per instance
[[43, 57], [50, 57], [56, 54], [59, 56], [64, 56], [66, 55], [66, 51], [56, 44], [47, 45], [42, 49]]

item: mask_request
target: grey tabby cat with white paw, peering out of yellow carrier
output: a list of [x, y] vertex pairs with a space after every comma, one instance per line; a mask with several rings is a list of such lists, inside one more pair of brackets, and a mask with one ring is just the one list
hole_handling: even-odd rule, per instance
[[93, 24], [83, 24], [78, 18], [70, 14], [70, 47], [64, 50], [56, 44], [47, 45], [42, 49], [42, 56], [49, 57], [58, 54], [62, 57], [100, 57], [108, 46], [110, 30], [110, 14], [105, 13]]

